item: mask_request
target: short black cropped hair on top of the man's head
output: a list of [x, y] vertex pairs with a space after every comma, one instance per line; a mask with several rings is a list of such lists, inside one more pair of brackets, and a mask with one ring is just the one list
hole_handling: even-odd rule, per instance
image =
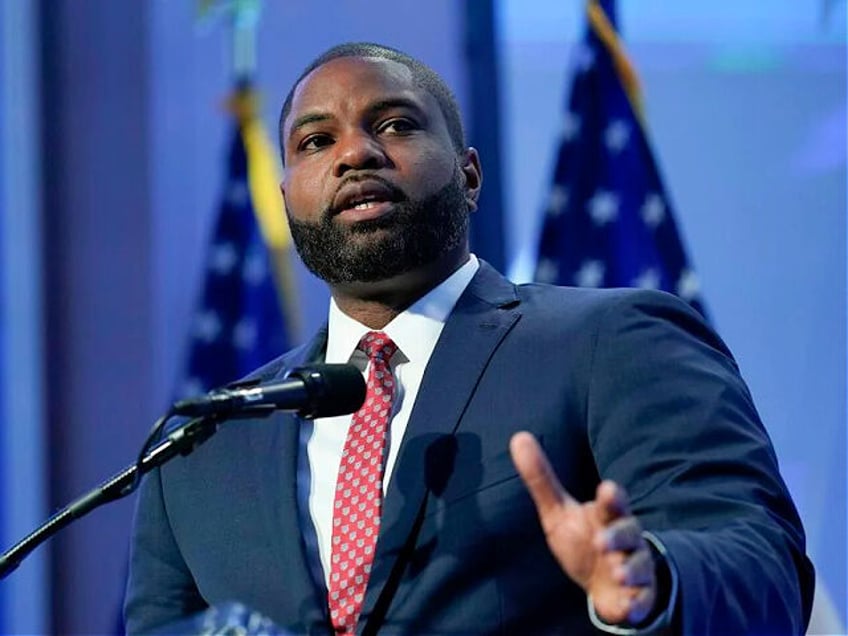
[[459, 106], [456, 103], [456, 97], [448, 88], [445, 81], [439, 76], [436, 71], [431, 69], [423, 62], [416, 60], [414, 57], [407, 55], [403, 51], [398, 51], [389, 46], [382, 44], [374, 44], [373, 42], [347, 42], [338, 44], [331, 49], [324, 51], [316, 57], [309, 66], [298, 76], [295, 83], [286, 95], [283, 102], [283, 108], [280, 111], [279, 138], [280, 138], [280, 153], [285, 163], [285, 140], [283, 139], [283, 126], [286, 123], [286, 117], [291, 112], [292, 100], [294, 92], [303, 81], [303, 78], [309, 75], [319, 66], [323, 66], [330, 60], [335, 60], [340, 57], [376, 57], [383, 60], [390, 60], [403, 64], [412, 72], [412, 81], [416, 86], [423, 88], [430, 93], [439, 104], [439, 109], [445, 118], [448, 126], [448, 133], [451, 141], [457, 152], [465, 150], [465, 131], [462, 127], [462, 116], [459, 114]]

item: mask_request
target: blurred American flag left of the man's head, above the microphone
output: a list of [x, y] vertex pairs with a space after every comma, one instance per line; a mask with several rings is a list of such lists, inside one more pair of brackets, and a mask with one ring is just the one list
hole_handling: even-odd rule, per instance
[[289, 344], [271, 252], [257, 221], [248, 181], [244, 131], [253, 116], [245, 115], [248, 103], [252, 97], [239, 101], [239, 121], [178, 397], [237, 380], [283, 353]]

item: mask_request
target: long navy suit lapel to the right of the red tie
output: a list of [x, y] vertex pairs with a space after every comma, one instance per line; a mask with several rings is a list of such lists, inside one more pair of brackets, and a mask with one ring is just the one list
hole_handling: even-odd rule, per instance
[[[515, 288], [486, 263], [460, 297], [427, 365], [386, 492], [362, 615], [379, 628], [434, 475], [492, 354], [520, 317]], [[360, 624], [361, 626], [361, 624]]]

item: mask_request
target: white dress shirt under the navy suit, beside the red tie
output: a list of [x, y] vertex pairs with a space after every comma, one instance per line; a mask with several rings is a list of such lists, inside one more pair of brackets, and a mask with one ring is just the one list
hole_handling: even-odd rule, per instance
[[[421, 386], [424, 369], [430, 361], [448, 315], [479, 267], [477, 258], [472, 254], [467, 263], [382, 329], [398, 347], [389, 363], [395, 376], [396, 389], [389, 422], [384, 493], [392, 476], [398, 448], [406, 431], [418, 388]], [[350, 362], [358, 366], [367, 378], [368, 358], [364, 352], [357, 349], [357, 345], [368, 331], [371, 330], [342, 313], [335, 301], [331, 300], [325, 362]], [[317, 535], [325, 583], [330, 576], [330, 539], [336, 478], [350, 421], [350, 415], [317, 419], [312, 427], [312, 434], [306, 441], [309, 515]]]

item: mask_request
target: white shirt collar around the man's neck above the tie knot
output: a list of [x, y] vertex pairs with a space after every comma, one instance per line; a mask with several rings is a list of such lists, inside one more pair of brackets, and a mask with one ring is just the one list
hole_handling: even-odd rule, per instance
[[[456, 301], [479, 268], [480, 262], [471, 254], [464, 265], [385, 326], [383, 332], [394, 341], [407, 360], [429, 358]], [[342, 312], [331, 298], [325, 361], [349, 362], [362, 336], [368, 331], [368, 327]]]

